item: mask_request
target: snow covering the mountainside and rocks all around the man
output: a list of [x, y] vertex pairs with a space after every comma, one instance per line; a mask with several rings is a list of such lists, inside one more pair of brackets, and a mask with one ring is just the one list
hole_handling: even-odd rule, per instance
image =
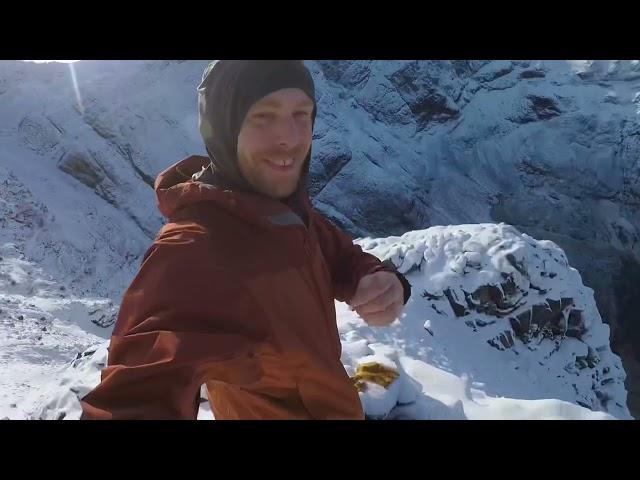
[[[79, 416], [69, 388], [83, 392], [99, 378], [122, 292], [162, 224], [148, 179], [203, 153], [195, 87], [205, 64], [76, 62], [79, 104], [69, 65], [0, 62], [0, 418]], [[336, 305], [347, 371], [373, 355], [400, 374], [388, 391], [373, 384], [363, 394], [369, 413], [629, 418], [624, 369], [582, 278], [606, 297], [612, 249], [640, 248], [638, 62], [308, 64], [320, 104], [314, 204], [414, 285], [389, 328]], [[521, 78], [527, 71], [544, 76]], [[540, 121], [532, 95], [554, 99], [562, 114]], [[414, 114], [424, 102], [444, 113]], [[74, 161], [88, 178], [74, 174]], [[549, 266], [553, 278], [541, 274]], [[465, 291], [499, 287], [503, 273], [528, 292], [520, 310], [572, 298], [582, 338], [559, 348], [557, 339], [516, 338], [498, 350], [487, 342], [501, 345], [507, 317], [456, 317], [441, 297], [450, 289], [465, 305]], [[613, 329], [612, 311], [601, 309]], [[598, 365], [575, 366], [590, 355]], [[206, 403], [200, 416], [212, 418]]]

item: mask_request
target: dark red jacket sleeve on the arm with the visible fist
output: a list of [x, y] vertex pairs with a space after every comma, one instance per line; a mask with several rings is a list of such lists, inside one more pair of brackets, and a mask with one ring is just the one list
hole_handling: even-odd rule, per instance
[[404, 303], [407, 303], [411, 296], [411, 284], [398, 272], [393, 262], [380, 261], [376, 256], [364, 252], [360, 245], [353, 243], [351, 236], [319, 212], [314, 210], [313, 215], [320, 247], [331, 271], [336, 300], [348, 303], [355, 295], [362, 277], [378, 271], [388, 271], [395, 273], [400, 280], [404, 290]]

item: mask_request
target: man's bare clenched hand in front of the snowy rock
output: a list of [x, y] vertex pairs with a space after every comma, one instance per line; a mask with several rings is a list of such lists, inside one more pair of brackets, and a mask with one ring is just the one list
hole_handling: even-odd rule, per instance
[[385, 327], [400, 316], [404, 307], [402, 283], [393, 272], [366, 275], [349, 305], [367, 324]]

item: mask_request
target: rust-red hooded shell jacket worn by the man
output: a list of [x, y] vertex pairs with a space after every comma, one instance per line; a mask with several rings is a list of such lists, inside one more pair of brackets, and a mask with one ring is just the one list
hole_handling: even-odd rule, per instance
[[361, 419], [340, 361], [334, 300], [387, 270], [307, 205], [193, 181], [192, 156], [156, 180], [168, 223], [126, 291], [84, 419]]

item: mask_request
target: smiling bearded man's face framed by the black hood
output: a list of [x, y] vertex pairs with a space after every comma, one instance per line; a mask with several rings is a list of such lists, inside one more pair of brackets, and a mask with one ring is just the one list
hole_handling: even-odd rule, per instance
[[286, 198], [311, 148], [313, 101], [299, 88], [270, 93], [251, 106], [238, 135], [238, 165], [257, 191]]

